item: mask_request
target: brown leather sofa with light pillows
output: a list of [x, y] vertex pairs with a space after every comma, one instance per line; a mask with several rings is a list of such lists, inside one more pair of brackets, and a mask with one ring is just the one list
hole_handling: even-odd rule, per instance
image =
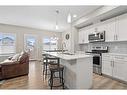
[[23, 52], [17, 61], [11, 61], [11, 58], [0, 63], [0, 80], [13, 78], [29, 73], [29, 55]]

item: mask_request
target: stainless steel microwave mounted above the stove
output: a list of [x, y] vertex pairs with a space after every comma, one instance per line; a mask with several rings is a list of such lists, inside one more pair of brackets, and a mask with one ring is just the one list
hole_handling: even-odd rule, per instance
[[88, 40], [90, 43], [92, 42], [104, 42], [105, 41], [105, 31], [97, 32], [96, 34], [89, 34]]

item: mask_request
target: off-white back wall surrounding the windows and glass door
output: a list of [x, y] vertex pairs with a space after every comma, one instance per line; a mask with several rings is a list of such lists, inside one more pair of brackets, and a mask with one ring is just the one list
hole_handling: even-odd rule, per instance
[[38, 58], [41, 59], [42, 55], [42, 39], [44, 37], [52, 37], [56, 35], [59, 37], [59, 43], [58, 48], [60, 48], [61, 43], [61, 32], [49, 32], [46, 30], [40, 30], [40, 29], [33, 29], [33, 28], [26, 28], [26, 27], [20, 27], [20, 26], [13, 26], [13, 25], [5, 25], [0, 24], [0, 32], [3, 33], [15, 33], [16, 34], [16, 53], [21, 52], [24, 50], [24, 34], [32, 34], [37, 36], [37, 43], [38, 43]]

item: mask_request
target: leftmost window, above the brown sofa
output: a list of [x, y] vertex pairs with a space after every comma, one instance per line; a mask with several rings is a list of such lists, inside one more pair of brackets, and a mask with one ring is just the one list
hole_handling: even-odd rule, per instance
[[15, 34], [0, 33], [0, 54], [15, 53]]

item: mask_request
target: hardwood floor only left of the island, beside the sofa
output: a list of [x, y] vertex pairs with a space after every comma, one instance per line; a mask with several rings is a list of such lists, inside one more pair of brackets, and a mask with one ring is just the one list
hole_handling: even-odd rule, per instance
[[29, 75], [5, 80], [1, 89], [48, 89], [47, 81], [42, 78], [41, 62], [32, 61], [29, 65]]

